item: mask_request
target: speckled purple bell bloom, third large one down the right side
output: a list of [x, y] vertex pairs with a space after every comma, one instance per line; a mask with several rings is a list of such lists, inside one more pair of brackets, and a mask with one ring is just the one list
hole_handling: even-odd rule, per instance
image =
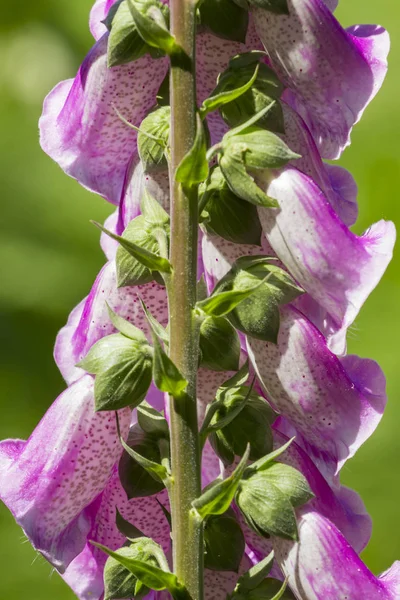
[[297, 309], [281, 307], [278, 343], [247, 339], [271, 404], [296, 428], [299, 443], [331, 479], [377, 427], [386, 404], [378, 364], [338, 358]]

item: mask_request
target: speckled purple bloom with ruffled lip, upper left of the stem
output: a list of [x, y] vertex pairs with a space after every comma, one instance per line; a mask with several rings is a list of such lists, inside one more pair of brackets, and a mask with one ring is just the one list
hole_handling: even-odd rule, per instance
[[137, 134], [115, 109], [139, 127], [156, 102], [168, 63], [159, 59], [155, 69], [146, 55], [109, 69], [107, 40], [104, 34], [93, 46], [74, 80], [50, 92], [39, 127], [43, 150], [68, 175], [118, 204]]

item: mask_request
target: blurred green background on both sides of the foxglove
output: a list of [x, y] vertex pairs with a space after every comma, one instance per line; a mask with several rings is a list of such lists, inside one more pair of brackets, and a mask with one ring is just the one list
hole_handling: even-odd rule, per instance
[[[0, 438], [26, 437], [63, 382], [52, 360], [57, 330], [87, 294], [103, 263], [98, 233], [112, 210], [66, 177], [38, 143], [45, 94], [72, 77], [92, 44], [91, 0], [2, 4], [0, 22]], [[400, 223], [400, 7], [398, 0], [342, 0], [345, 26], [380, 23], [392, 37], [389, 75], [353, 132], [342, 164], [359, 184], [357, 232], [381, 218]], [[377, 433], [343, 470], [374, 520], [364, 559], [376, 573], [400, 559], [400, 256], [350, 332], [349, 350], [375, 358], [388, 377], [389, 405]], [[72, 600], [44, 559], [0, 507], [0, 597]], [[37, 560], [36, 560], [37, 558]]]

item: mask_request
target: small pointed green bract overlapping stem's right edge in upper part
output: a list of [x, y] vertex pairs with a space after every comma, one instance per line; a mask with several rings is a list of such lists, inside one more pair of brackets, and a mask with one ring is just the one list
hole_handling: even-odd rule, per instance
[[200, 115], [196, 115], [196, 135], [193, 146], [183, 157], [175, 173], [175, 179], [183, 187], [190, 188], [205, 181], [209, 167], [207, 155], [207, 141], [204, 126]]

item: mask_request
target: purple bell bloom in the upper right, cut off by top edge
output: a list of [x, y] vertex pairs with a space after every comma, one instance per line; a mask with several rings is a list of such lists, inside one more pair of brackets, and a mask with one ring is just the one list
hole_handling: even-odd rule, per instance
[[288, 88], [286, 100], [310, 127], [321, 155], [334, 159], [383, 83], [390, 44], [376, 25], [343, 29], [326, 4], [288, 0], [289, 15], [257, 8], [253, 16]]

